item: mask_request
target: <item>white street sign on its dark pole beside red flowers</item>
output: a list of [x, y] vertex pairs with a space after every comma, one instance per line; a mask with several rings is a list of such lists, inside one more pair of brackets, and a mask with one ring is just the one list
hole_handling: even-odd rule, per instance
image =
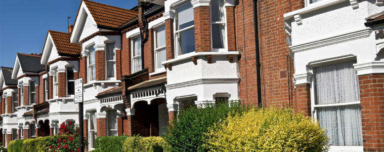
[[83, 120], [83, 86], [82, 78], [75, 80], [75, 103], [78, 103], [78, 120], [79, 120], [79, 134], [80, 134], [80, 152], [84, 152], [84, 120]]

